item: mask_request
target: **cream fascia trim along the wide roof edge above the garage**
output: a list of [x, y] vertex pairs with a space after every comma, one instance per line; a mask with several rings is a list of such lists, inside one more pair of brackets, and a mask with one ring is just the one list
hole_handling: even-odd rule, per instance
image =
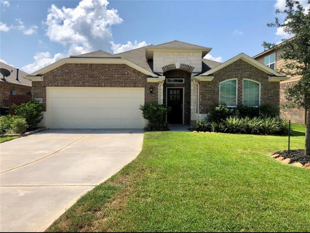
[[82, 64], [126, 64], [138, 71], [140, 71], [141, 73], [144, 73], [148, 76], [152, 76], [152, 77], [158, 77], [156, 74], [148, 71], [147, 69], [142, 68], [141, 66], [138, 66], [137, 64], [127, 60], [127, 59], [122, 59], [122, 58], [63, 58], [60, 59], [59, 61], [54, 62], [53, 64], [50, 64], [42, 69], [39, 69], [36, 72], [33, 72], [31, 74], [29, 74], [27, 77], [29, 76], [36, 76], [39, 74], [44, 74], [47, 73], [63, 64], [78, 64], [78, 63], [82, 63]]

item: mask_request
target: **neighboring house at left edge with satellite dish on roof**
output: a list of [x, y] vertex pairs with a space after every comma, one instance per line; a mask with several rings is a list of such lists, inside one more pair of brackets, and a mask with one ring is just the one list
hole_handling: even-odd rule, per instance
[[0, 107], [1, 115], [8, 114], [8, 109], [11, 103], [9, 103], [10, 95], [29, 95], [31, 94], [31, 81], [24, 79], [23, 77], [28, 75], [22, 70], [19, 70], [13, 66], [0, 62], [0, 68], [7, 69], [11, 72], [11, 75], [0, 78]]

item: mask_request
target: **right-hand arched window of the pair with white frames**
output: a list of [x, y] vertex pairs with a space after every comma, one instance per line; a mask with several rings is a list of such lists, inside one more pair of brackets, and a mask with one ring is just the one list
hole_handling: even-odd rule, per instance
[[243, 104], [256, 107], [260, 105], [259, 82], [243, 79]]

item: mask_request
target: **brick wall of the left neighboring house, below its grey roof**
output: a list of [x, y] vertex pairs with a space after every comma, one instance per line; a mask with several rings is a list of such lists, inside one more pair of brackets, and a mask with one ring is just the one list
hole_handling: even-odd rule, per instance
[[0, 105], [1, 107], [7, 107], [9, 95], [11, 91], [15, 90], [16, 95], [28, 95], [31, 92], [31, 87], [17, 86], [0, 82]]

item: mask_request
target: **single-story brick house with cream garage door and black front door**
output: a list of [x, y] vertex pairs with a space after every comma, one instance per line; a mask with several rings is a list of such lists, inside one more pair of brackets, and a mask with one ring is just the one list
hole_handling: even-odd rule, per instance
[[170, 124], [193, 124], [220, 102], [279, 105], [287, 77], [243, 53], [224, 63], [180, 41], [119, 54], [70, 56], [25, 78], [42, 98], [47, 128], [143, 128], [140, 104], [167, 104]]

